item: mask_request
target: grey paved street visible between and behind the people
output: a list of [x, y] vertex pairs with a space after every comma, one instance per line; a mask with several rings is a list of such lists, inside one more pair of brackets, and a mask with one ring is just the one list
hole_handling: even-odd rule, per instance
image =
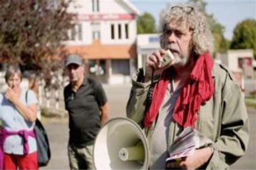
[[[111, 117], [124, 117], [125, 105], [130, 93], [130, 85], [104, 86], [111, 109]], [[249, 148], [244, 157], [236, 162], [232, 169], [256, 169], [256, 110], [248, 109], [250, 117], [251, 138]], [[68, 121], [45, 120], [45, 128], [50, 138], [52, 158], [47, 167], [41, 169], [69, 169], [67, 143], [68, 143]]]

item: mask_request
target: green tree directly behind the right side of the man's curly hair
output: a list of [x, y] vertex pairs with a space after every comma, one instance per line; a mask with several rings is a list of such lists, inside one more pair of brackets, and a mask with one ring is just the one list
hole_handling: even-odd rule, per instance
[[220, 23], [218, 23], [217, 20], [214, 19], [212, 14], [208, 14], [206, 12], [207, 3], [204, 2], [203, 0], [189, 0], [188, 3], [193, 4], [194, 6], [197, 6], [199, 11], [205, 14], [214, 37], [214, 54], [217, 52], [226, 51], [229, 48], [230, 43], [224, 37], [225, 27]]

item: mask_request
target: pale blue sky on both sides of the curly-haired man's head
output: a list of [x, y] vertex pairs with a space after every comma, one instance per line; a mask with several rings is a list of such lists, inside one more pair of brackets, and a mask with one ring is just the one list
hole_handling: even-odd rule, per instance
[[[159, 23], [160, 11], [171, 5], [185, 3], [185, 0], [130, 0], [140, 13], [149, 12]], [[256, 0], [205, 0], [206, 11], [213, 14], [217, 22], [225, 27], [224, 36], [232, 39], [235, 25], [247, 18], [256, 19]]]

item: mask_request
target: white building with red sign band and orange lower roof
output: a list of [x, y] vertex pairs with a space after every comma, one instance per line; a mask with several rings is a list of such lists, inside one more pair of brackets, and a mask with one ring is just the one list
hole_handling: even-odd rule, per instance
[[69, 12], [77, 13], [78, 20], [66, 45], [85, 60], [86, 73], [102, 82], [130, 82], [138, 9], [126, 0], [76, 0]]

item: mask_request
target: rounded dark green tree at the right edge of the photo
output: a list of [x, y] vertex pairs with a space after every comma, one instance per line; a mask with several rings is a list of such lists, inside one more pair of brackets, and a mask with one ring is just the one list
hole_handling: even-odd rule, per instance
[[254, 59], [256, 59], [256, 20], [245, 19], [235, 26], [232, 49], [253, 49]]

